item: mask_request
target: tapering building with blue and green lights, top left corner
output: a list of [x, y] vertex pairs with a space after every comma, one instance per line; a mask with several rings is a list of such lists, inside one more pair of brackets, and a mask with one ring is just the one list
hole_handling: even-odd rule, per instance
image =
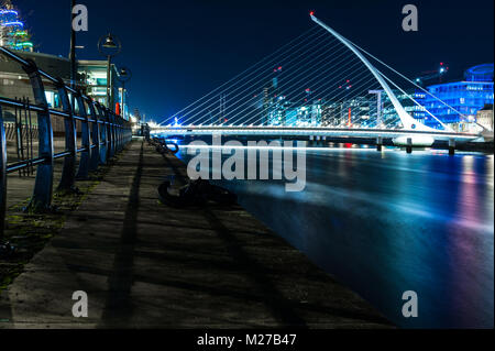
[[10, 0], [3, 1], [0, 7], [0, 46], [33, 52], [31, 35]]

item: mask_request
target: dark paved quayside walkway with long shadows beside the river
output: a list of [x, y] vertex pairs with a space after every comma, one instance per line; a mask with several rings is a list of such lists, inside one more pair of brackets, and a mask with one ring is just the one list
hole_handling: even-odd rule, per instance
[[[240, 207], [157, 201], [174, 156], [134, 141], [0, 295], [0, 328], [383, 328], [359, 296]], [[89, 318], [72, 315], [85, 290]]]

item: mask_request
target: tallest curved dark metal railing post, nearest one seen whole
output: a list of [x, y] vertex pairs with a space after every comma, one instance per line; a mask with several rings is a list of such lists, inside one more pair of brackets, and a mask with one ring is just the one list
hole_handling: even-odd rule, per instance
[[34, 211], [50, 210], [53, 196], [53, 130], [48, 103], [36, 64], [28, 59], [28, 65], [22, 68], [30, 78], [35, 103], [44, 108], [43, 111], [37, 112], [37, 125], [38, 154], [45, 162], [37, 166], [33, 197], [28, 208]]

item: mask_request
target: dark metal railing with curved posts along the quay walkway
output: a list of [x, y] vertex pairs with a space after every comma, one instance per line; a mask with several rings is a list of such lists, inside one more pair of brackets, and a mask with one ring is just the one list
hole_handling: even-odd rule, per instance
[[[36, 167], [33, 195], [29, 210], [50, 210], [53, 199], [54, 161], [64, 160], [58, 190], [75, 190], [77, 179], [86, 179], [106, 164], [132, 140], [131, 123], [113, 111], [95, 102], [80, 90], [68, 87], [62, 78], [55, 78], [37, 68], [32, 59], [24, 59], [11, 51], [0, 47], [0, 54], [16, 62], [28, 74], [34, 95], [34, 103], [26, 103], [0, 97], [0, 240], [3, 237], [7, 209], [7, 176], [10, 173]], [[54, 84], [58, 92], [62, 110], [48, 107], [44, 83]], [[70, 95], [70, 96], [69, 96]], [[72, 101], [72, 102], [70, 102]], [[77, 105], [77, 109], [75, 108]], [[7, 152], [3, 109], [24, 109], [37, 114], [37, 157], [32, 156], [9, 163]], [[76, 110], [78, 114], [76, 114]], [[54, 152], [52, 117], [63, 118], [65, 150]], [[80, 147], [78, 147], [77, 122], [80, 125]], [[78, 157], [79, 155], [79, 157]], [[79, 160], [78, 160], [79, 158]]]

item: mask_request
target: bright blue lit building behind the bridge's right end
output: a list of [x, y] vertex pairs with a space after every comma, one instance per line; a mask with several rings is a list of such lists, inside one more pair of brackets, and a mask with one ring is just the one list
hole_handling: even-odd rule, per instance
[[[493, 64], [474, 66], [464, 73], [464, 80], [462, 81], [438, 84], [428, 87], [428, 90], [433, 96], [460, 113], [428, 94], [421, 95], [418, 102], [443, 123], [454, 130], [465, 131], [468, 123], [475, 121], [477, 111], [485, 105], [493, 103]], [[438, 121], [421, 108], [417, 109], [415, 118], [429, 127], [439, 127]]]

